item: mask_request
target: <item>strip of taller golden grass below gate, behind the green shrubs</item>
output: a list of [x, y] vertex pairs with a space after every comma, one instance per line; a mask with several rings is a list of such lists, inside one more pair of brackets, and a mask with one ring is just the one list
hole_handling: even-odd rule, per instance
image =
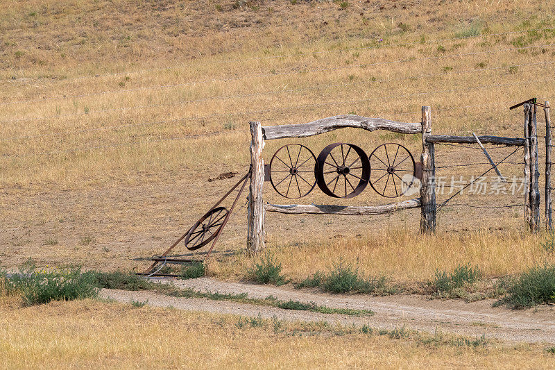
[[[540, 247], [542, 237], [522, 237], [510, 232], [415, 235], [389, 230], [375, 231], [354, 241], [343, 236], [300, 245], [278, 243], [268, 253], [282, 264], [283, 274], [297, 283], [316, 271], [330, 271], [338, 264], [350, 264], [365, 275], [411, 283], [431, 280], [436, 270], [452, 271], [467, 262], [479, 266], [487, 278], [517, 274], [534, 264], [553, 263], [552, 253]], [[210, 262], [208, 271], [214, 276], [244, 276], [244, 271], [256, 262], [244, 255], [234, 255]]]

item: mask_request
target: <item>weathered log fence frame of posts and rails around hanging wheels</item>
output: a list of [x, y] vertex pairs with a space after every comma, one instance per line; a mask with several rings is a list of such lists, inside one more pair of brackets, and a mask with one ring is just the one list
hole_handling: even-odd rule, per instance
[[[535, 101], [534, 101], [535, 102]], [[307, 124], [291, 124], [262, 127], [259, 121], [250, 122], [250, 161], [251, 176], [248, 196], [248, 233], [247, 247], [250, 253], [264, 249], [265, 211], [285, 214], [313, 215], [380, 215], [408, 208], [420, 208], [420, 232], [434, 233], [436, 230], [436, 184], [435, 184], [435, 143], [454, 144], [494, 144], [502, 146], [524, 146], [524, 178], [526, 186], [525, 219], [529, 230], [539, 228], [540, 192], [538, 187], [538, 140], [536, 133], [536, 104], [524, 103], [524, 137], [498, 136], [454, 136], [432, 135], [432, 114], [429, 107], [422, 107], [422, 120], [419, 123], [402, 123], [381, 118], [367, 118], [357, 115], [340, 115], [319, 119]], [[546, 120], [546, 185], [545, 218], [546, 226], [551, 229], [551, 131], [549, 121], [549, 102], [545, 102]], [[314, 205], [314, 204], [264, 204], [264, 160], [262, 150], [265, 140], [301, 138], [334, 131], [338, 128], [362, 128], [366, 131], [386, 130], [394, 133], [421, 134], [422, 153], [420, 155], [421, 185], [420, 197], [377, 206], [361, 205]], [[497, 170], [495, 165], [494, 169]], [[531, 186], [529, 186], [531, 184]]]

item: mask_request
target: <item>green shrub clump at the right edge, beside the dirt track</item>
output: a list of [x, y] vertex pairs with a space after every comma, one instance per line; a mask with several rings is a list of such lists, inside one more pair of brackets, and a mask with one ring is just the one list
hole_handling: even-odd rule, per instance
[[511, 281], [507, 293], [497, 305], [528, 308], [541, 303], [555, 303], [555, 264], [534, 266], [524, 271]]

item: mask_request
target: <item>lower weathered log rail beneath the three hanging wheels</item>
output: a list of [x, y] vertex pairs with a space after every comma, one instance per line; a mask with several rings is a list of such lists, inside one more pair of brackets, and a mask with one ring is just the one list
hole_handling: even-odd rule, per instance
[[399, 203], [385, 205], [362, 206], [362, 205], [325, 205], [325, 204], [265, 204], [268, 212], [280, 212], [290, 215], [347, 215], [366, 216], [383, 215], [397, 210], [420, 207], [420, 198], [410, 199]]

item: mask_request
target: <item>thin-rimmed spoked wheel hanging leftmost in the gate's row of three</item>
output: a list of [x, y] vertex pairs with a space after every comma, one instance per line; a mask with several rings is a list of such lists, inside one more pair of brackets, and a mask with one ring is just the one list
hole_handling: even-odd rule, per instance
[[270, 183], [278, 194], [289, 199], [302, 198], [316, 186], [316, 156], [301, 144], [287, 144], [270, 161]]

